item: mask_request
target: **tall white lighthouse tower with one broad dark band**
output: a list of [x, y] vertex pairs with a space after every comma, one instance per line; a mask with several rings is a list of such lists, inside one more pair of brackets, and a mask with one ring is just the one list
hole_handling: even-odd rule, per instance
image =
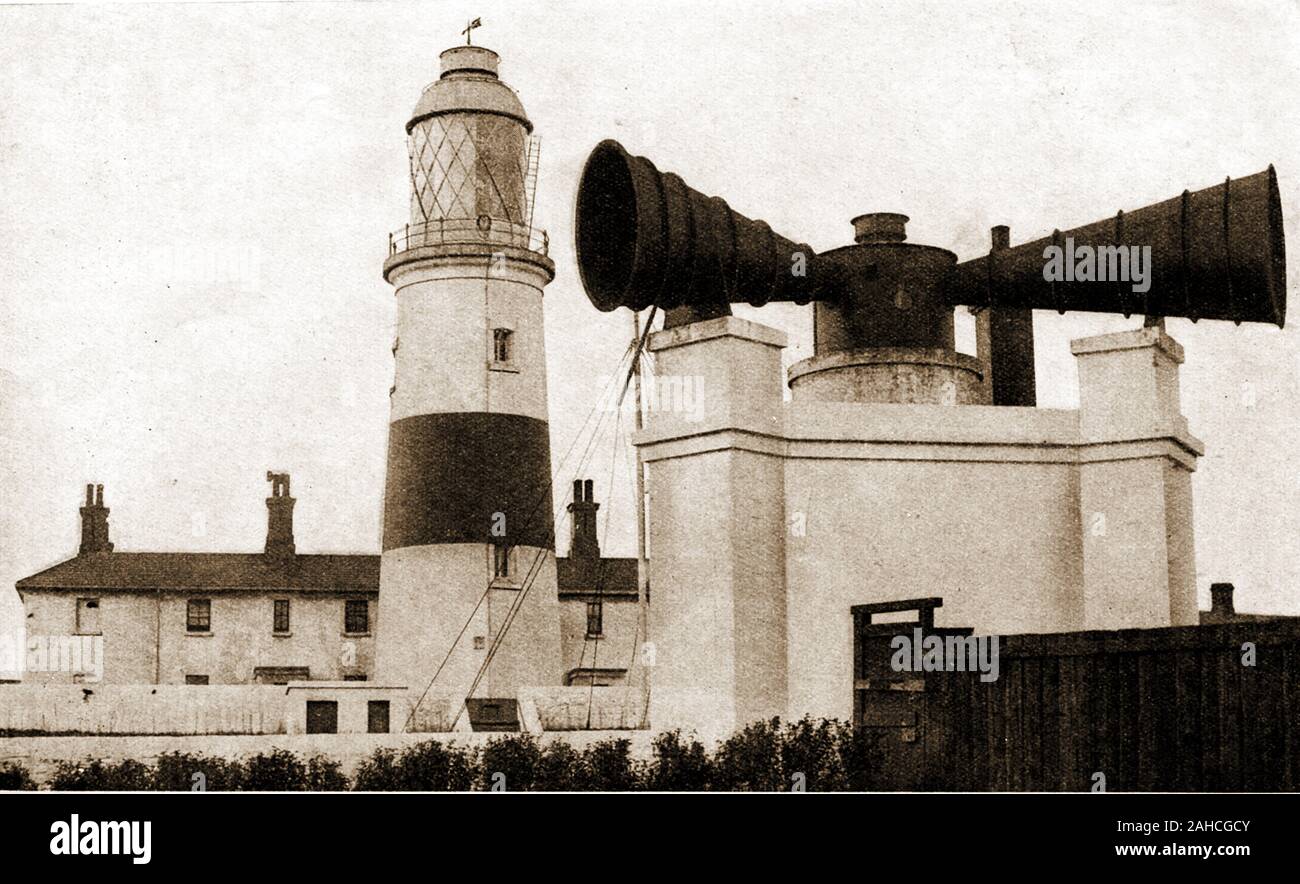
[[498, 61], [442, 53], [406, 125], [411, 222], [384, 263], [398, 316], [376, 675], [407, 685], [413, 728], [467, 697], [560, 684], [542, 338], [555, 265], [532, 226], [533, 124]]

